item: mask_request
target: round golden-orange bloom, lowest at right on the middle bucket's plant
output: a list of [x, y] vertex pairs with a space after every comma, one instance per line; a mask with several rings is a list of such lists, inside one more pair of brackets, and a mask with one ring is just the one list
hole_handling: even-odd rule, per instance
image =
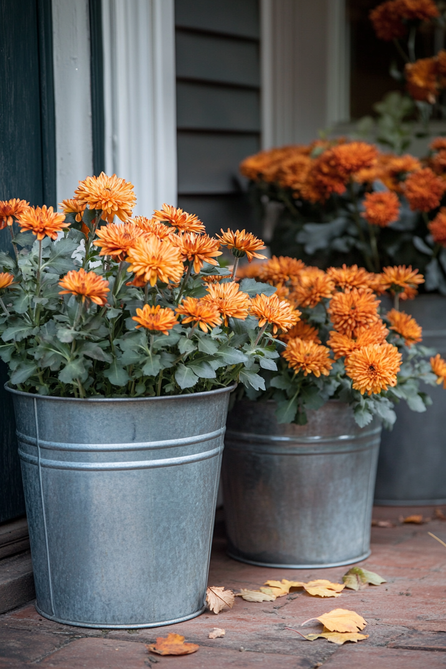
[[372, 344], [353, 351], [345, 361], [346, 375], [353, 380], [353, 388], [361, 395], [378, 395], [397, 385], [401, 367], [401, 353], [391, 344]]

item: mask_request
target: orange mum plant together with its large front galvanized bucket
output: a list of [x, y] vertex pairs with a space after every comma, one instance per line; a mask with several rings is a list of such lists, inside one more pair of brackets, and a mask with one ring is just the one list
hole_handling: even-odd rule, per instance
[[14, 248], [0, 254], [0, 355], [36, 607], [71, 625], [203, 611], [229, 394], [264, 387], [258, 371], [278, 357], [266, 330], [298, 318], [273, 287], [219, 266], [221, 246], [243, 256], [261, 240], [213, 239], [169, 205], [132, 218], [135, 201], [102, 173], [65, 213], [0, 203]]

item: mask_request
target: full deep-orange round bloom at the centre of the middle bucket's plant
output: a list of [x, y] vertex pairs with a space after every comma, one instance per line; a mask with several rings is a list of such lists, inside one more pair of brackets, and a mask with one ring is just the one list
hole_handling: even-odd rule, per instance
[[350, 292], [338, 292], [332, 297], [328, 313], [334, 329], [352, 337], [357, 328], [371, 326], [379, 320], [379, 304], [373, 293], [352, 288]]

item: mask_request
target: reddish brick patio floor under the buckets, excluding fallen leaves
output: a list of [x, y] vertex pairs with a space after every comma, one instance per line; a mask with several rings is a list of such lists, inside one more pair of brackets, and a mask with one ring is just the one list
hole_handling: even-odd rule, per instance
[[[0, 669], [446, 669], [446, 522], [401, 524], [401, 514], [433, 515], [429, 507], [376, 507], [374, 518], [393, 520], [397, 527], [372, 528], [372, 555], [362, 564], [387, 583], [358, 592], [347, 590], [335, 599], [292, 593], [273, 602], [249, 603], [236, 598], [231, 611], [203, 613], [185, 623], [149, 630], [102, 631], [49, 622], [33, 602], [0, 616]], [[443, 507], [443, 512], [446, 509]], [[336, 528], [333, 528], [336, 531]], [[225, 538], [217, 523], [210, 585], [257, 589], [267, 579], [341, 581], [348, 567], [332, 569], [267, 569], [235, 562], [225, 555]], [[336, 646], [324, 639], [309, 642], [286, 630], [304, 620], [342, 607], [360, 613], [369, 638]], [[213, 627], [223, 638], [208, 638]], [[309, 623], [307, 634], [320, 630]], [[168, 632], [199, 644], [197, 653], [171, 657], [149, 654], [145, 644]]]

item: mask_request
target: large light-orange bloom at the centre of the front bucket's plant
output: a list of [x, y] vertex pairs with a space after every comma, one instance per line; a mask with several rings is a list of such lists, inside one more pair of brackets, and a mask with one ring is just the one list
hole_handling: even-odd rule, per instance
[[155, 235], [134, 240], [126, 260], [130, 263], [127, 272], [134, 272], [150, 286], [154, 286], [158, 279], [164, 284], [177, 283], [185, 270], [179, 249], [169, 240], [162, 241]]

